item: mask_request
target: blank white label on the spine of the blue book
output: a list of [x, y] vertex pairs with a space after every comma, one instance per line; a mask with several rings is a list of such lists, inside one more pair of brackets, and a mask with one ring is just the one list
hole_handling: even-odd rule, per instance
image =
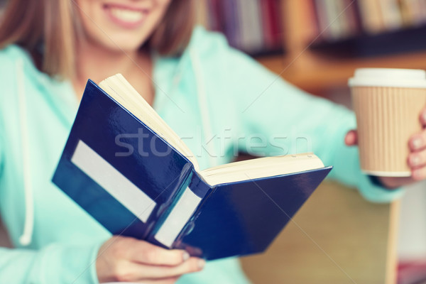
[[188, 222], [192, 213], [200, 204], [201, 198], [197, 197], [190, 187], [187, 187], [180, 197], [178, 203], [165, 219], [163, 226], [160, 227], [155, 239], [165, 246], [172, 246], [173, 241], [178, 237], [183, 226]]

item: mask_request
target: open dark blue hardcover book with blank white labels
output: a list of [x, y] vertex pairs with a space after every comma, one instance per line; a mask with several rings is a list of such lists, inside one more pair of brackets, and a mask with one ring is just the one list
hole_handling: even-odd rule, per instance
[[217, 259], [264, 251], [331, 168], [310, 153], [200, 170], [114, 75], [87, 82], [53, 182], [112, 234]]

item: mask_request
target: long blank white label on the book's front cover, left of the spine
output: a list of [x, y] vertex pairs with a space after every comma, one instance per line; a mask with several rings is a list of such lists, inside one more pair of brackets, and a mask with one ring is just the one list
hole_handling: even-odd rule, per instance
[[148, 220], [156, 203], [86, 143], [78, 141], [71, 162], [138, 219], [144, 223]]

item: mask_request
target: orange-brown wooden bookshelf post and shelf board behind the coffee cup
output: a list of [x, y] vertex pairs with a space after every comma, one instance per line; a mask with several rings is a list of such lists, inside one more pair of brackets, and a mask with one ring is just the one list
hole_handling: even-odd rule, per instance
[[[344, 87], [348, 78], [359, 67], [426, 68], [426, 49], [388, 55], [377, 53], [373, 57], [364, 58], [342, 58], [318, 53], [312, 50], [312, 45], [321, 42], [320, 37], [317, 37], [317, 23], [312, 17], [310, 6], [312, 2], [310, 0], [281, 0], [281, 2], [284, 42], [287, 43], [285, 56], [258, 58], [258, 61], [308, 92]], [[375, 36], [379, 35], [377, 33]]]

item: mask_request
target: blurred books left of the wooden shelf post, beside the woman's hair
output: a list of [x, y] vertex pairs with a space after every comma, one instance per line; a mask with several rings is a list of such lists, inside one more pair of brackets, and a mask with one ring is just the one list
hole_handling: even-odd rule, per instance
[[250, 55], [282, 53], [280, 0], [197, 0], [198, 23]]

